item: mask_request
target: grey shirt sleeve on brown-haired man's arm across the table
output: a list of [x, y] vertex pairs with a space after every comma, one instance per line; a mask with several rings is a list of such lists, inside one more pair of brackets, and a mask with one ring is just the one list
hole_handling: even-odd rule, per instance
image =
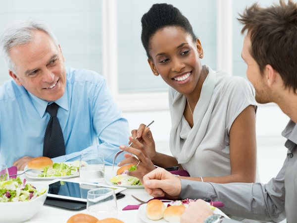
[[[262, 183], [211, 183], [181, 179], [179, 200], [208, 198], [225, 204], [224, 213], [245, 219], [281, 222], [285, 213], [285, 172], [288, 163], [267, 184]], [[224, 220], [223, 223], [231, 223]]]

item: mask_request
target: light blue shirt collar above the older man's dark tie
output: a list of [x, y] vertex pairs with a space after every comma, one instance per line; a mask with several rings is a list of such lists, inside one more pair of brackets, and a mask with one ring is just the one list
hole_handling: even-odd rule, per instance
[[44, 114], [47, 110], [47, 106], [53, 102], [56, 103], [62, 109], [68, 111], [67, 86], [65, 88], [64, 95], [61, 98], [59, 98], [58, 100], [53, 101], [53, 102], [48, 102], [48, 101], [42, 100], [42, 99], [36, 97], [35, 95], [32, 95], [29, 91], [28, 91], [28, 95], [29, 95], [34, 107], [38, 111], [41, 118], [44, 116]]

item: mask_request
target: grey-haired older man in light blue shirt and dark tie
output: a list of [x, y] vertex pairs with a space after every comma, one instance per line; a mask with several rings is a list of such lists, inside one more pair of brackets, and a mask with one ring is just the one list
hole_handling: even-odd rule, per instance
[[91, 151], [112, 163], [129, 126], [103, 77], [65, 67], [56, 37], [39, 19], [11, 23], [0, 54], [13, 78], [0, 87], [1, 164], [23, 170], [34, 157], [65, 162]]

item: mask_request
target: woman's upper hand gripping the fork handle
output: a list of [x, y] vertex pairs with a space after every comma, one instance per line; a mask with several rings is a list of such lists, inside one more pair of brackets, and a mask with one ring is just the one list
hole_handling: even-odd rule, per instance
[[[145, 146], [147, 154], [150, 160], [153, 162], [153, 159], [156, 156], [155, 144], [152, 138], [151, 131], [149, 130], [149, 128], [146, 128], [146, 129], [145, 128], [146, 128], [146, 125], [141, 124], [138, 129], [133, 129], [131, 133], [133, 138], [137, 137], [137, 140]], [[129, 142], [129, 144], [130, 143], [131, 141]], [[137, 148], [137, 146], [134, 143], [131, 147]]]

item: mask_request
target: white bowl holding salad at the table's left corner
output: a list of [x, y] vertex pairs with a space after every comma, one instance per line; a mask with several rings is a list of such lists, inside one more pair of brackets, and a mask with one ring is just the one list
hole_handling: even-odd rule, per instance
[[23, 222], [32, 218], [43, 206], [47, 199], [49, 185], [39, 182], [28, 182], [36, 187], [37, 191], [47, 188], [47, 191], [35, 198], [32, 201], [19, 201], [19, 202], [5, 202], [0, 203], [0, 222], [3, 223], [17, 223]]

